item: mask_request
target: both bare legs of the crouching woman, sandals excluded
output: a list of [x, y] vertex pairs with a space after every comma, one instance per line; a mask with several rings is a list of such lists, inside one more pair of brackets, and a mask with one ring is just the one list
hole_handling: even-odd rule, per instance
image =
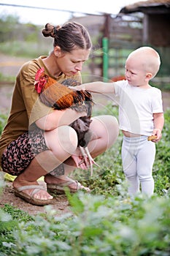
[[[58, 132], [56, 131], [58, 129], [56, 129], [53, 132], [47, 132], [45, 134], [47, 146], [50, 148], [50, 151], [44, 151], [37, 155], [27, 169], [15, 179], [13, 183], [14, 187], [18, 188], [28, 184], [37, 184], [36, 180], [41, 176], [45, 176], [45, 182], [47, 184], [58, 184], [69, 180], [67, 176], [76, 167], [70, 156], [74, 154], [77, 148], [77, 138], [72, 128], [67, 129], [65, 127], [64, 129], [65, 132], [62, 129], [59, 129]], [[93, 132], [93, 137], [88, 144], [88, 148], [91, 156], [95, 158], [115, 143], [119, 133], [118, 123], [113, 116], [97, 116], [93, 118], [90, 129]], [[55, 157], [55, 154], [58, 158]], [[58, 177], [51, 176], [49, 173], [50, 170], [60, 165], [61, 162], [64, 162], [65, 174]], [[75, 186], [76, 184], [72, 184], [72, 188], [75, 188]], [[32, 189], [26, 189], [24, 192], [30, 195]], [[50, 199], [51, 195], [46, 191], [40, 190], [34, 197], [46, 200]]]

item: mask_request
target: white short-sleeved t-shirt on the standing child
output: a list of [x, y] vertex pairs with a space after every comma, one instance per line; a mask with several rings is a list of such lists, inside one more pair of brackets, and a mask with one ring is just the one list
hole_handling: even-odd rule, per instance
[[125, 131], [149, 136], [154, 129], [153, 113], [163, 113], [161, 90], [130, 86], [127, 80], [114, 83], [119, 97], [119, 124]]

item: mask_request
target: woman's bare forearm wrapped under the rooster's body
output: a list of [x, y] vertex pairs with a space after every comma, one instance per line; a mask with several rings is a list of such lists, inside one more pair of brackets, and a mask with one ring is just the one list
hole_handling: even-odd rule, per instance
[[39, 118], [35, 123], [40, 129], [50, 131], [57, 127], [61, 127], [62, 125], [69, 125], [77, 118], [86, 115], [86, 112], [78, 113], [71, 108], [67, 108], [66, 110], [53, 110], [52, 113]]

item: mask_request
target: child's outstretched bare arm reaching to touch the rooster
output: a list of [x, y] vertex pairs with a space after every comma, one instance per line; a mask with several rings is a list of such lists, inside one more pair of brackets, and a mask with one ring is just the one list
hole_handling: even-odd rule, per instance
[[91, 91], [99, 94], [115, 94], [114, 83], [104, 83], [101, 81], [93, 83], [83, 83], [80, 86], [74, 86], [74, 90], [80, 91]]

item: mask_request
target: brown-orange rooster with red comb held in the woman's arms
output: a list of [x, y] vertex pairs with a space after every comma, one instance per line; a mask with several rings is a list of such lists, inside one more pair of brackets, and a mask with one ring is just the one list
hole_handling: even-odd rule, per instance
[[[87, 116], [82, 116], [72, 122], [70, 126], [77, 132], [78, 147], [82, 153], [85, 164], [90, 163], [91, 176], [93, 175], [93, 158], [88, 151], [88, 143], [91, 138], [90, 123], [93, 107], [93, 99], [88, 91], [75, 91], [67, 86], [77, 86], [80, 83], [77, 80], [66, 79], [62, 83], [58, 83], [53, 78], [45, 74], [45, 69], [38, 69], [35, 76], [35, 89], [39, 94], [42, 103], [55, 110], [64, 110], [72, 108], [77, 112], [86, 112]], [[86, 159], [88, 157], [88, 162]]]

